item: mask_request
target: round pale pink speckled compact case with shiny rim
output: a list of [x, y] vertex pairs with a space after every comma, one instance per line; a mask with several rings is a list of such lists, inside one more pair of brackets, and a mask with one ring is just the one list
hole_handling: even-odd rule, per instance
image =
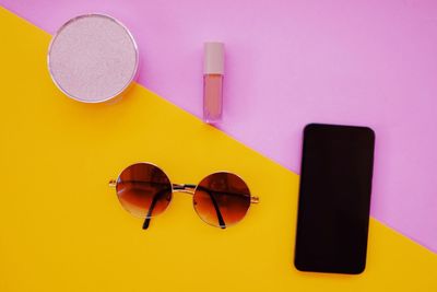
[[138, 70], [138, 47], [119, 21], [104, 14], [76, 16], [50, 42], [48, 70], [69, 97], [99, 103], [119, 96]]

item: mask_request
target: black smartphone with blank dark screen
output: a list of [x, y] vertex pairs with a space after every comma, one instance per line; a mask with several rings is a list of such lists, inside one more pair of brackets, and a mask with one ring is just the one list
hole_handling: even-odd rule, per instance
[[294, 265], [361, 273], [366, 267], [375, 133], [310, 124], [304, 130]]

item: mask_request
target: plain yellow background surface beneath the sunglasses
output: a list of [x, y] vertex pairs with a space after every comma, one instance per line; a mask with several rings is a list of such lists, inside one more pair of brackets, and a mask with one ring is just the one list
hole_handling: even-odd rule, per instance
[[[376, 220], [363, 275], [298, 272], [296, 174], [140, 85], [107, 104], [67, 98], [50, 36], [4, 9], [0, 25], [0, 291], [437, 291], [437, 256]], [[235, 172], [261, 201], [220, 230], [177, 194], [142, 231], [107, 185], [139, 161], [174, 183]]]

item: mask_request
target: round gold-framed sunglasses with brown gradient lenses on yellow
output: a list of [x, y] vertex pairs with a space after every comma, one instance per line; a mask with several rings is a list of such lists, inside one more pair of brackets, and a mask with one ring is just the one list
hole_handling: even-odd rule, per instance
[[172, 184], [168, 176], [156, 165], [137, 163], [125, 168], [115, 187], [121, 206], [131, 214], [145, 218], [143, 229], [153, 217], [163, 213], [174, 192], [192, 195], [198, 215], [208, 224], [225, 229], [241, 221], [251, 203], [259, 198], [250, 195], [249, 187], [237, 175], [217, 172], [203, 178], [198, 185]]

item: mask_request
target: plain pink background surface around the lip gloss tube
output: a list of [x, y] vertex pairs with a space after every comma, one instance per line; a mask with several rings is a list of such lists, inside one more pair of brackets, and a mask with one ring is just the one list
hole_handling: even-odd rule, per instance
[[49, 33], [82, 13], [119, 19], [139, 82], [199, 117], [202, 43], [225, 42], [221, 129], [298, 173], [306, 124], [373, 127], [373, 215], [437, 250], [437, 1], [0, 3]]

